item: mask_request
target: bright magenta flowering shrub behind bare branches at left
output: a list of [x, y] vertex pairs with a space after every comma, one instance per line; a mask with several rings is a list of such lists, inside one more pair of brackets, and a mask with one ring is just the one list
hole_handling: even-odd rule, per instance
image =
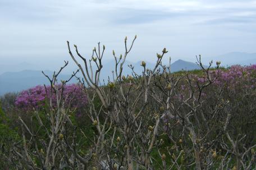
[[[33, 108], [44, 106], [46, 96], [51, 94], [51, 86], [36, 86], [22, 91], [16, 98], [15, 105], [25, 111], [30, 111]], [[82, 89], [76, 84], [67, 84], [63, 89], [63, 97], [66, 98], [66, 103], [71, 102], [72, 108], [80, 110], [87, 103], [87, 98]], [[56, 105], [56, 97], [52, 96], [52, 103]]]

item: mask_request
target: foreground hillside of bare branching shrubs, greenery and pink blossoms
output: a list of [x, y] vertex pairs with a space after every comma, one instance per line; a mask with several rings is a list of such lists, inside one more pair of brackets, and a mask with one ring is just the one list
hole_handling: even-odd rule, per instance
[[[125, 75], [123, 55], [100, 81], [105, 46], [85, 59], [68, 44], [74, 72], [49, 85], [1, 98], [0, 164], [4, 169], [254, 169], [256, 65], [172, 73], [165, 48], [148, 69]], [[75, 55], [76, 54], [76, 55]], [[83, 63], [77, 62], [77, 57]], [[92, 69], [93, 66], [94, 68]], [[58, 81], [57, 81], [58, 80]]]

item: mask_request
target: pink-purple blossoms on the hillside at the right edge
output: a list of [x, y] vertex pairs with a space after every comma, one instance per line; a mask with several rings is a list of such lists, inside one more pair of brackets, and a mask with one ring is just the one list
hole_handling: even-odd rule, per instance
[[[211, 87], [224, 88], [229, 92], [239, 92], [243, 89], [256, 88], [256, 64], [249, 66], [232, 65], [228, 69], [215, 69], [209, 71], [211, 79], [217, 78]], [[198, 86], [208, 83], [208, 79], [205, 75], [190, 74], [189, 78], [193, 83], [193, 88], [197, 89]], [[182, 82], [179, 88], [179, 92], [174, 96], [175, 99], [182, 100], [184, 96], [188, 95], [189, 85], [186, 82]], [[206, 97], [210, 92], [204, 90], [201, 97]]]

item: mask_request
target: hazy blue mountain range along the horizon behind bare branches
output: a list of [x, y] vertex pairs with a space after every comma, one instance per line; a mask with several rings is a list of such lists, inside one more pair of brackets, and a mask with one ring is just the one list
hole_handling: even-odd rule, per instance
[[[221, 61], [223, 67], [240, 64], [240, 65], [250, 65], [256, 64], [256, 53], [242, 53], [242, 52], [232, 52], [227, 54], [222, 54], [214, 57], [203, 57], [202, 62], [208, 65], [208, 62], [213, 60], [214, 64], [216, 61]], [[152, 69], [154, 63], [146, 62], [147, 68]], [[127, 67], [128, 64], [134, 66], [136, 73], [141, 73], [143, 68], [141, 67], [141, 62], [132, 63], [126, 61], [126, 65], [123, 70], [123, 75], [131, 74], [131, 69]], [[168, 65], [167, 63], [163, 63]], [[213, 65], [214, 66], [214, 65]], [[22, 89], [27, 89], [38, 84], [49, 84], [47, 78], [38, 70], [40, 68], [38, 65], [33, 65], [29, 63], [20, 63], [16, 65], [4, 65], [0, 64], [0, 96], [7, 92], [19, 92]], [[100, 74], [100, 81], [104, 79], [107, 82], [109, 78], [111, 81], [112, 70], [115, 68], [115, 62], [113, 60], [104, 60], [103, 68]], [[29, 70], [28, 70], [29, 69]], [[77, 69], [76, 65], [73, 63], [68, 64], [68, 67], [60, 75], [59, 79], [68, 79], [72, 71]], [[199, 66], [195, 63], [186, 62], [184, 60], [177, 60], [171, 64], [171, 71], [177, 72], [179, 70], [193, 70], [199, 69]], [[95, 70], [95, 67], [94, 67]], [[10, 72], [11, 71], [11, 72]], [[53, 72], [46, 70], [46, 74], [52, 75]], [[79, 74], [78, 74], [79, 75]], [[70, 83], [76, 83], [76, 79], [72, 79]]]

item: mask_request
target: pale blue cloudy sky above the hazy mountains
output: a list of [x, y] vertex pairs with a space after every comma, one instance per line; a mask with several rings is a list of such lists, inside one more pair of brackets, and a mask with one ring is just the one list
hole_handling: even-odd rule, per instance
[[[124, 38], [134, 48], [127, 60], [167, 58], [195, 62], [243, 51], [255, 53], [256, 1], [243, 0], [0, 0], [0, 65], [25, 63], [50, 69], [70, 60], [66, 41], [86, 58], [100, 41], [124, 54]], [[166, 59], [167, 59], [166, 58]]]

